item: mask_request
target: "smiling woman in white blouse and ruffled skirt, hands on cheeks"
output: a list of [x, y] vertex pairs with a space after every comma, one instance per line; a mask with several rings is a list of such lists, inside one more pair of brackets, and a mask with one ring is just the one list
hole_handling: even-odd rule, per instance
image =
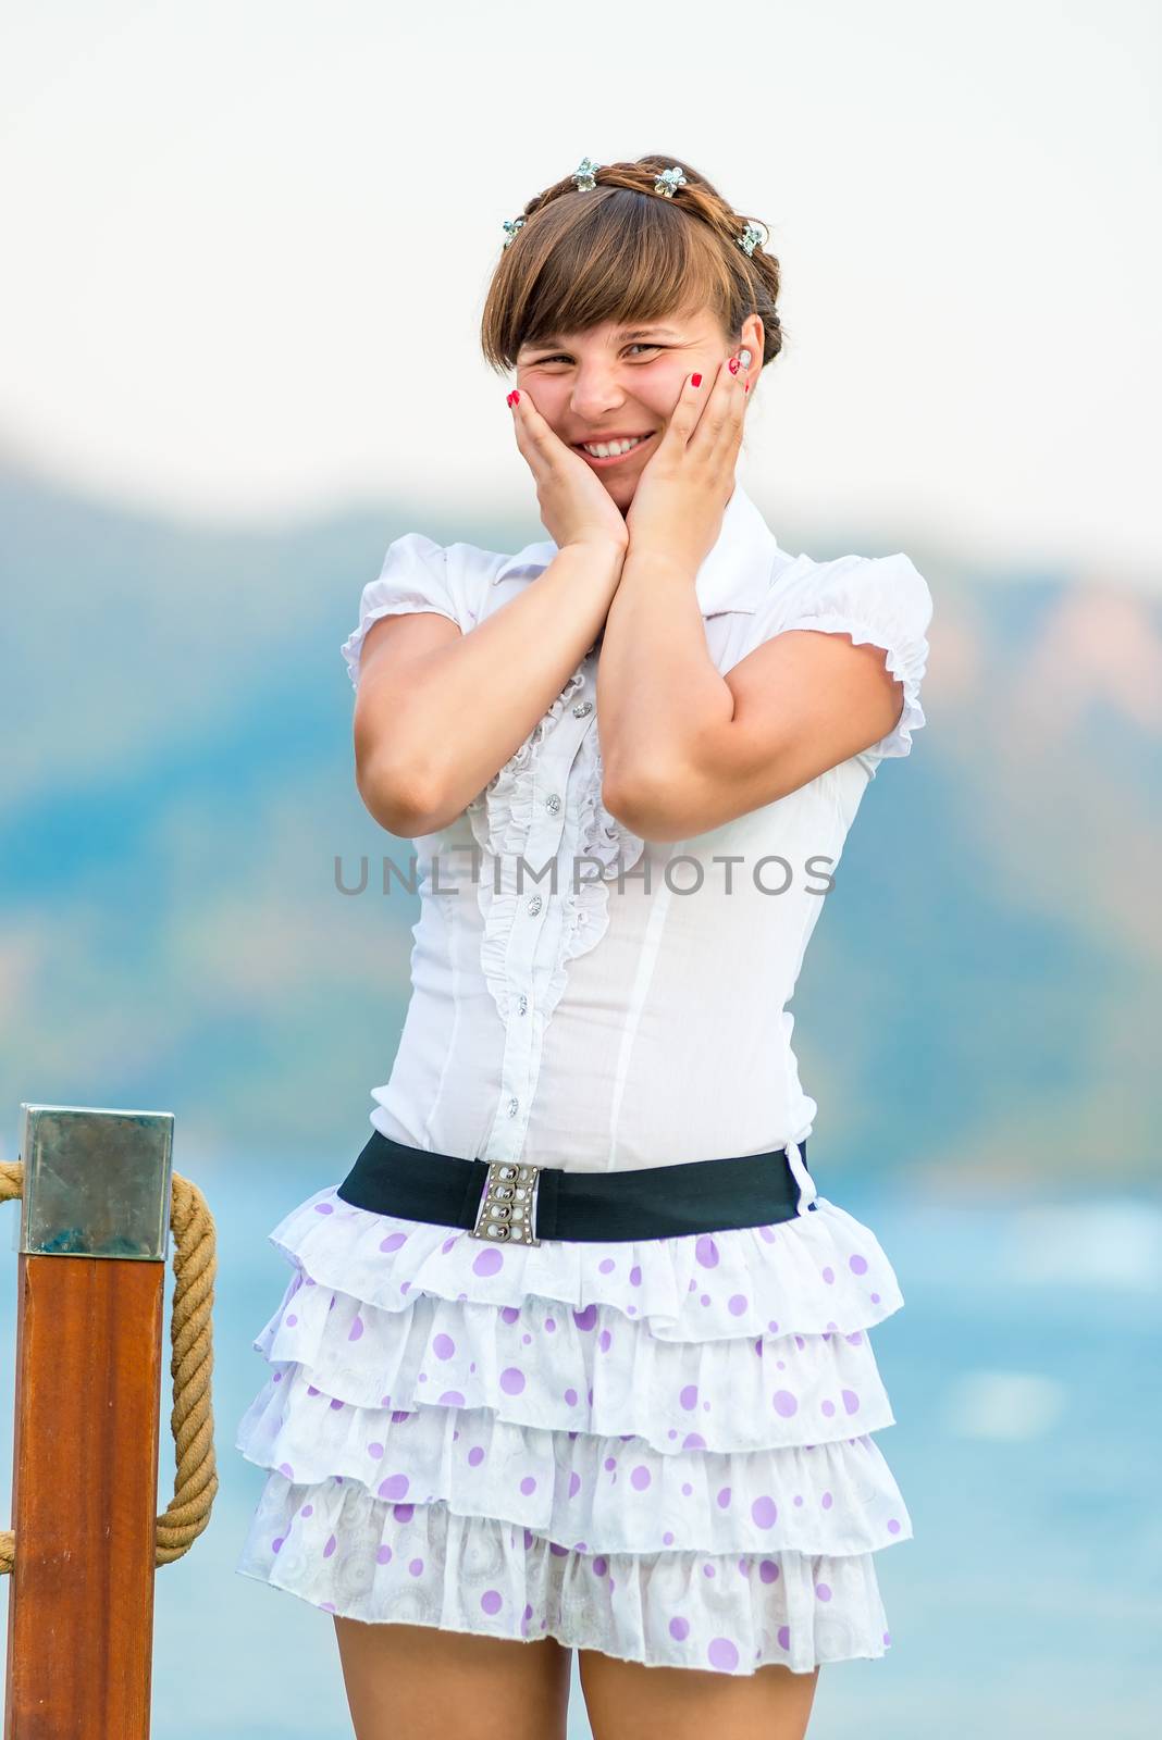
[[870, 1436], [903, 1300], [807, 1171], [786, 1002], [931, 599], [736, 482], [779, 266], [705, 177], [586, 158], [504, 228], [484, 351], [548, 539], [398, 538], [343, 647], [412, 999], [271, 1234], [238, 1568], [334, 1615], [360, 1740], [557, 1740], [572, 1648], [597, 1740], [790, 1740], [887, 1650], [912, 1535]]

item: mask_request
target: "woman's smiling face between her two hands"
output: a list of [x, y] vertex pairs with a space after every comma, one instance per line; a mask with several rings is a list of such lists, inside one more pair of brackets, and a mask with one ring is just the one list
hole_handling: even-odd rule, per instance
[[[748, 315], [738, 348], [751, 353], [750, 378], [762, 360], [762, 322]], [[517, 386], [527, 388], [553, 433], [597, 472], [624, 512], [637, 480], [664, 433], [687, 374], [701, 369], [713, 381], [732, 346], [718, 318], [699, 310], [668, 315], [640, 327], [614, 322], [588, 332], [557, 332], [522, 345]], [[584, 444], [645, 437], [624, 454], [605, 458]]]

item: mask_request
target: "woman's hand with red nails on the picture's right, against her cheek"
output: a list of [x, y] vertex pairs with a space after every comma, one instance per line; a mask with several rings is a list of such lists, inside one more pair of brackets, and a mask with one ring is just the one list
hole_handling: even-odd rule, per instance
[[685, 378], [666, 433], [633, 491], [626, 513], [631, 550], [698, 572], [718, 539], [734, 489], [745, 405], [746, 376], [738, 357], [724, 358], [713, 379]]

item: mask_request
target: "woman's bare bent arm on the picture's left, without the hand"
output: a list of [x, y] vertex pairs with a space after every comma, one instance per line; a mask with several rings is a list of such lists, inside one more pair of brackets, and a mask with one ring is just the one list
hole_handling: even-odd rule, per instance
[[624, 550], [562, 546], [470, 633], [430, 611], [384, 616], [364, 640], [355, 783], [402, 839], [457, 816], [513, 755], [602, 630]]

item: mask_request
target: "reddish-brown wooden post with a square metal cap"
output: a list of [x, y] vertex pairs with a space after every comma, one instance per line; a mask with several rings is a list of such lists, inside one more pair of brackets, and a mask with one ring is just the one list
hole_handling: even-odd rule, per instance
[[174, 1121], [21, 1110], [3, 1740], [148, 1740]]

